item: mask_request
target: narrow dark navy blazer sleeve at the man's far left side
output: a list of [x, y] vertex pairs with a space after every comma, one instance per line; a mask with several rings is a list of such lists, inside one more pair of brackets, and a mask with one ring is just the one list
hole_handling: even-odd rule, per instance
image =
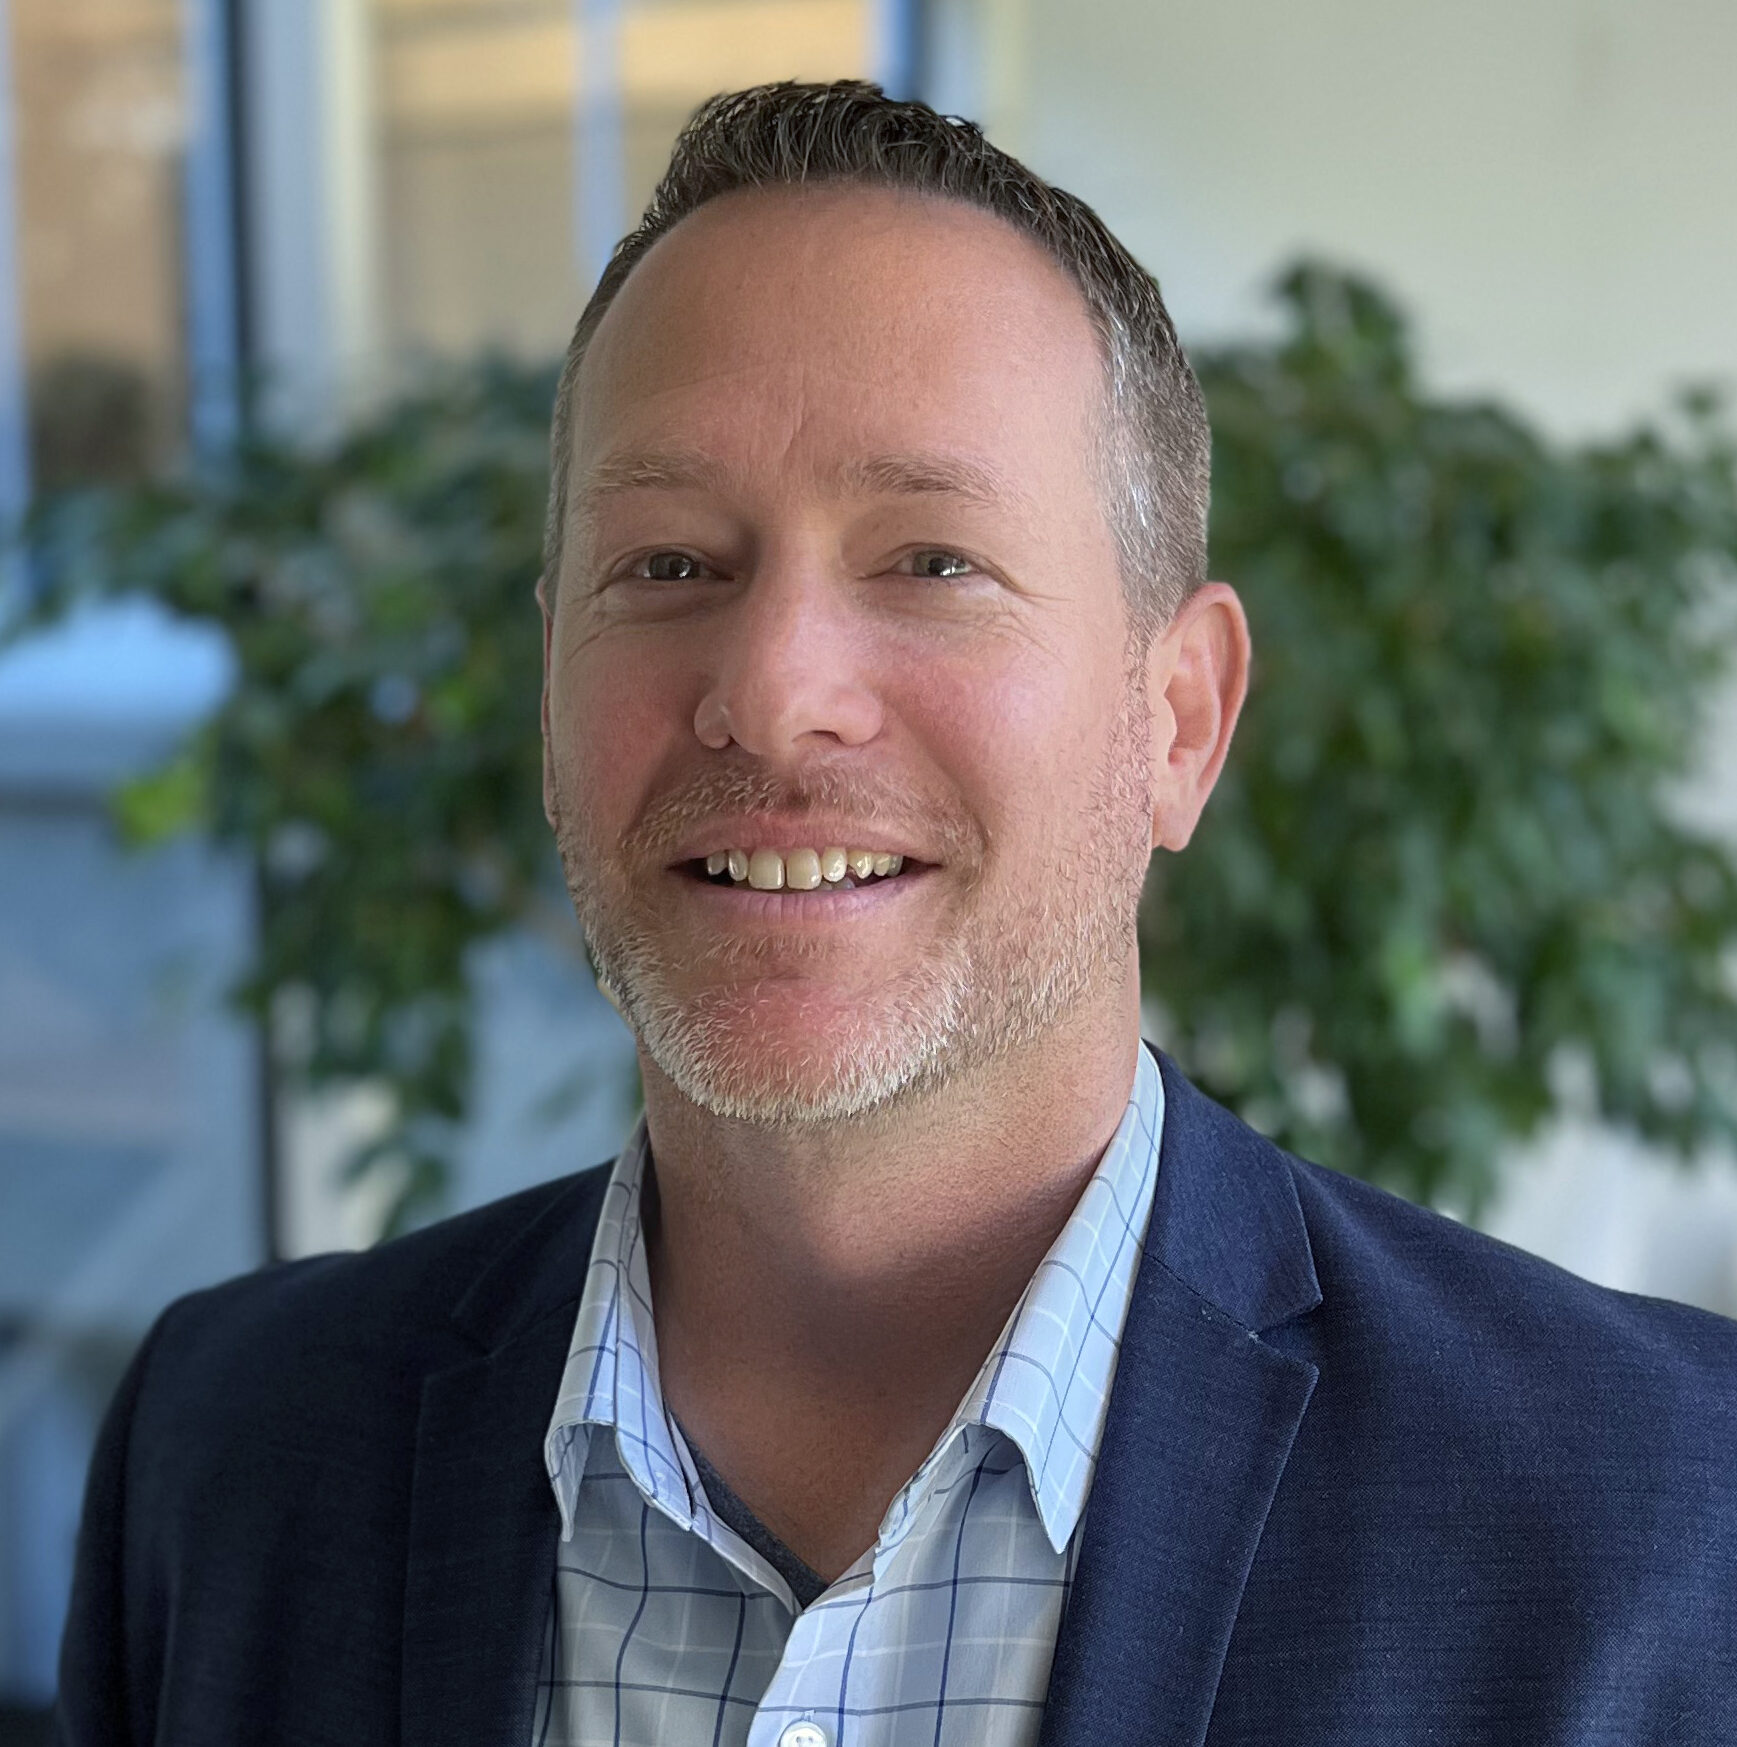
[[131, 1621], [138, 1597], [128, 1593], [129, 1448], [145, 1371], [168, 1312], [133, 1356], [103, 1417], [84, 1488], [72, 1605], [61, 1639], [59, 1696], [54, 1709], [58, 1747], [124, 1747], [150, 1740], [152, 1693], [138, 1667]]

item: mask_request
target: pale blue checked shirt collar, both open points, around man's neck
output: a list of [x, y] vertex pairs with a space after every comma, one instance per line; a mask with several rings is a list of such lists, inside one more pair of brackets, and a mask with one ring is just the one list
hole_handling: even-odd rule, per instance
[[[1097, 1466], [1122, 1324], [1145, 1247], [1164, 1127], [1164, 1081], [1146, 1048], [1110, 1144], [935, 1450], [893, 1501], [881, 1544], [909, 1530], [968, 1427], [1007, 1436], [1055, 1551], [1085, 1509]], [[594, 1427], [615, 1429], [622, 1466], [678, 1527], [694, 1527], [695, 1480], [657, 1378], [640, 1191], [650, 1151], [641, 1122], [610, 1174], [573, 1342], [543, 1459], [563, 1537], [571, 1537]]]

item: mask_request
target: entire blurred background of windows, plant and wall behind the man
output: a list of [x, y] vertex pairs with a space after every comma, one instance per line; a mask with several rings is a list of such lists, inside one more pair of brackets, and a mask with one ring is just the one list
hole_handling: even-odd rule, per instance
[[732, 86], [980, 119], [1201, 362], [1276, 634], [1153, 1034], [1737, 1314], [1734, 66], [1718, 0], [0, 0], [0, 1742], [168, 1300], [631, 1120], [535, 812], [542, 423]]

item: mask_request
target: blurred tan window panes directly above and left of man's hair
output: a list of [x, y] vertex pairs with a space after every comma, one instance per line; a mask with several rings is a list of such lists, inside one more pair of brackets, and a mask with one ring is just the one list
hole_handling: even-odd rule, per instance
[[697, 103], [865, 77], [872, 0], [374, 0], [381, 330], [559, 351]]

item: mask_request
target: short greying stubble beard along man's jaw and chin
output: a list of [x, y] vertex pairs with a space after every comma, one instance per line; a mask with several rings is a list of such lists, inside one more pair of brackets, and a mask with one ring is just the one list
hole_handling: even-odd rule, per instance
[[[744, 798], [767, 790], [753, 777], [739, 786]], [[776, 790], [779, 798], [790, 793], [783, 783]], [[772, 805], [769, 793], [762, 805]], [[1036, 1045], [1125, 975], [1152, 830], [1132, 676], [1082, 825], [1059, 854], [1055, 846], [1048, 854], [1028, 846], [1031, 854], [1008, 880], [1021, 901], [989, 903], [982, 882], [968, 882], [959, 926], [891, 987], [856, 1003], [807, 1046], [772, 1052], [755, 1024], [753, 970], [785, 970], [813, 943], [720, 936], [701, 964], [683, 964], [687, 977], [711, 973], [711, 987], [682, 992], [655, 917], [636, 908], [626, 880], [610, 879], [608, 860], [578, 819], [556, 807], [561, 865], [592, 963], [641, 1048], [701, 1109], [774, 1129], [889, 1115]]]

